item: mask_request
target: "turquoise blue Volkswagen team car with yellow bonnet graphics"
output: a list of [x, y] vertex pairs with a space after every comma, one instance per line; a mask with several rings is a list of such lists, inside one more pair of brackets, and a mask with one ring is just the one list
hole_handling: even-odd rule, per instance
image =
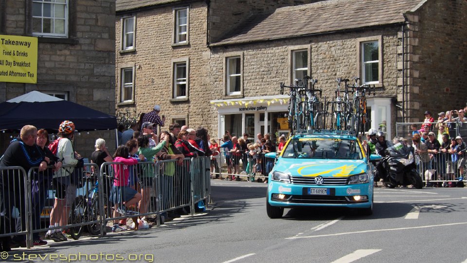
[[351, 133], [292, 136], [269, 173], [269, 218], [281, 218], [284, 208], [298, 207], [350, 207], [371, 215], [373, 159], [378, 156], [368, 158]]

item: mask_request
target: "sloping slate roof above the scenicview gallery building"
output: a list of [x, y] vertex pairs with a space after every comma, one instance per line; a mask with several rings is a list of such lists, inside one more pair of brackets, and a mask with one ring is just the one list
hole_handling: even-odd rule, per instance
[[210, 46], [257, 42], [404, 22], [427, 0], [327, 0], [247, 19]]

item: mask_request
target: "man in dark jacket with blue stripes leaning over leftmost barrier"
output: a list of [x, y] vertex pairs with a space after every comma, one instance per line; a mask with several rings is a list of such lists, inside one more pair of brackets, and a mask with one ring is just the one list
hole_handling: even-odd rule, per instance
[[[39, 172], [47, 169], [47, 160], [39, 147], [36, 145], [37, 128], [26, 125], [21, 128], [18, 138], [14, 138], [5, 150], [0, 162], [0, 167], [19, 166], [26, 173], [33, 167], [39, 167]], [[26, 205], [24, 204], [24, 177], [18, 171], [2, 171], [0, 176], [0, 234], [16, 232], [16, 222], [12, 211], [16, 204], [19, 209], [21, 230], [26, 230]], [[19, 204], [19, 205], [18, 205]], [[1, 237], [1, 251], [11, 250], [11, 238]], [[20, 246], [26, 246], [24, 236], [15, 236], [15, 241]]]

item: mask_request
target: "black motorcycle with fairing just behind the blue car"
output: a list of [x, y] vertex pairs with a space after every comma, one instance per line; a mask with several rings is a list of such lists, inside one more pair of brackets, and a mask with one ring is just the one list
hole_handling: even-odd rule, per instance
[[423, 187], [422, 178], [417, 171], [415, 164], [414, 149], [402, 143], [397, 143], [385, 150], [386, 156], [383, 157], [379, 165], [382, 165], [385, 172], [378, 173], [382, 177], [383, 183], [389, 188], [396, 186], [409, 186], [417, 189]]

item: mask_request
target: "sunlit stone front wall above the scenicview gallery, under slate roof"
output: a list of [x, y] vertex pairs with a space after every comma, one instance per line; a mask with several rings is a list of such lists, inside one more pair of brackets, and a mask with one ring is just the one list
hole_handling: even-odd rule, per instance
[[[397, 97], [397, 38], [398, 27], [384, 30], [366, 30], [333, 35], [323, 35], [290, 40], [269, 41], [248, 45], [216, 47], [211, 50], [208, 76], [212, 79], [211, 99], [221, 99], [224, 94], [224, 57], [230, 52], [243, 52], [243, 90], [245, 97], [280, 94], [279, 83], [290, 82], [290, 52], [309, 48], [311, 69], [308, 74], [318, 79], [316, 88], [323, 89], [323, 97], [334, 97], [337, 77], [359, 76], [359, 39], [381, 36], [383, 41], [383, 85], [378, 87], [378, 97]], [[228, 98], [228, 97], [227, 97]], [[206, 107], [211, 107], [207, 105]], [[395, 122], [395, 110], [392, 122]], [[216, 112], [210, 116], [217, 129]]]

